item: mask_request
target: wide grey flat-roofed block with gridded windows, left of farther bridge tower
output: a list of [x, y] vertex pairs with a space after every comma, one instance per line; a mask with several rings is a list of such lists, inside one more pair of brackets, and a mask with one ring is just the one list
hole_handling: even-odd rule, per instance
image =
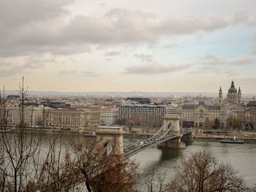
[[166, 112], [165, 105], [127, 104], [119, 107], [119, 120], [134, 120], [142, 125], [161, 126]]

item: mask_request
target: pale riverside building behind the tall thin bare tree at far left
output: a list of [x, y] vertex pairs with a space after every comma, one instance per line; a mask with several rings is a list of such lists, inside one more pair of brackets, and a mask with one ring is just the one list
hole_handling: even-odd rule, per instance
[[[10, 126], [20, 125], [21, 109], [20, 107], [6, 107], [7, 124]], [[23, 118], [26, 126], [39, 126], [42, 123], [42, 107], [24, 107]]]

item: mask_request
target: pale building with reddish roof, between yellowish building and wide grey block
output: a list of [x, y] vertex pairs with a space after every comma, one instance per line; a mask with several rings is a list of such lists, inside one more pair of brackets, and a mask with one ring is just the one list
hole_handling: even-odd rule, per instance
[[110, 126], [116, 124], [118, 120], [118, 108], [100, 109], [100, 120], [103, 125]]

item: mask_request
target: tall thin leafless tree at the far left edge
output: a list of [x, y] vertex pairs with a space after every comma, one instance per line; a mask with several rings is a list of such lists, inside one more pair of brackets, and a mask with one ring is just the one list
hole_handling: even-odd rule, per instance
[[[31, 166], [39, 160], [39, 151], [42, 132], [33, 130], [25, 133], [26, 123], [24, 114], [25, 100], [28, 96], [27, 88], [24, 88], [24, 79], [18, 91], [20, 96], [19, 114], [20, 124], [15, 133], [7, 132], [6, 109], [1, 107], [1, 164], [0, 180], [2, 191], [25, 191], [29, 181], [34, 180], [39, 166]], [[1, 106], [5, 106], [4, 94], [0, 96]], [[38, 165], [38, 164], [37, 164]]]

